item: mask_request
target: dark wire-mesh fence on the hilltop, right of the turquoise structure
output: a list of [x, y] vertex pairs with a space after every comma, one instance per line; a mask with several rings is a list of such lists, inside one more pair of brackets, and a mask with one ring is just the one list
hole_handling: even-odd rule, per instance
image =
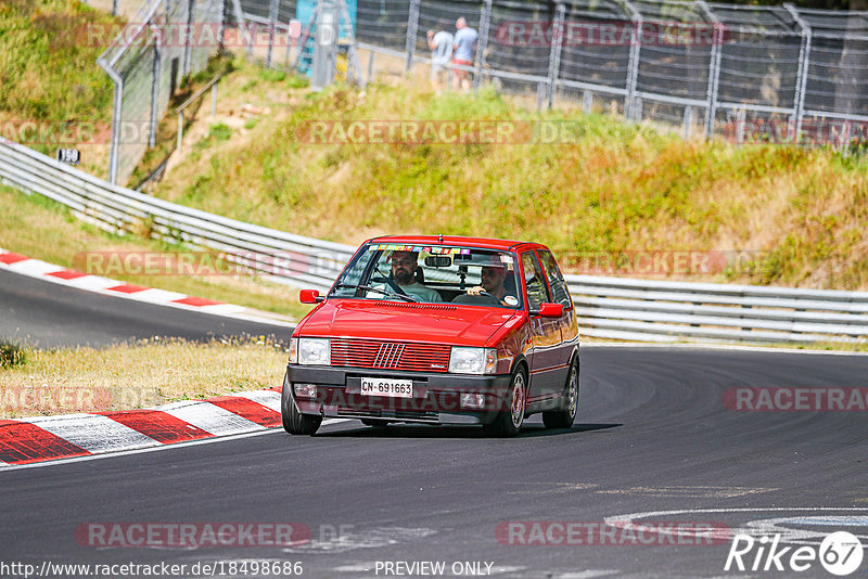
[[[238, 0], [280, 21], [314, 4]], [[372, 55], [430, 64], [425, 33], [480, 33], [474, 86], [580, 104], [686, 137], [846, 149], [868, 138], [868, 12], [678, 0], [358, 0], [356, 39]], [[264, 21], [265, 22], [265, 21]], [[278, 23], [280, 25], [280, 23]], [[307, 26], [303, 18], [302, 25]], [[365, 67], [365, 60], [362, 60]], [[366, 74], [367, 73], [367, 74]]]

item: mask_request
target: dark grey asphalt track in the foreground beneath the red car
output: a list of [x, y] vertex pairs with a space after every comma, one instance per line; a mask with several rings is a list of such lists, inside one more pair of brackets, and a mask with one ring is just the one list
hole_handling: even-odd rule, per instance
[[[197, 562], [298, 561], [303, 577], [349, 579], [396, 577], [384, 574], [383, 562], [423, 561], [444, 562], [442, 577], [454, 577], [460, 562], [493, 563], [493, 577], [794, 576], [725, 572], [728, 543], [528, 546], [502, 544], [496, 530], [506, 522], [675, 511], [640, 519], [741, 528], [784, 518], [781, 527], [865, 536], [868, 414], [733, 412], [723, 397], [733, 386], [864, 387], [867, 376], [866, 357], [592, 347], [582, 351], [580, 409], [570, 430], [546, 432], [533, 421], [502, 440], [470, 427], [374, 430], [348, 421], [315, 437], [276, 430], [0, 472], [0, 563], [167, 562], [190, 569]], [[723, 511], [702, 511], [709, 509]], [[75, 538], [88, 523], [224, 522], [299, 523], [312, 540], [297, 548], [106, 549]], [[852, 577], [866, 569], [863, 562]], [[831, 577], [816, 562], [797, 576]]]

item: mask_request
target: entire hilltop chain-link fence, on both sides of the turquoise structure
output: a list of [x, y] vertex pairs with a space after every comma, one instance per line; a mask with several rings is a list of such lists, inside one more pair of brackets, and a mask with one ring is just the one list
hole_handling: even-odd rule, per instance
[[[370, 79], [384, 59], [431, 64], [425, 33], [480, 33], [474, 87], [580, 104], [679, 127], [685, 137], [850, 151], [868, 140], [868, 12], [702, 0], [347, 0]], [[124, 182], [153, 146], [181, 79], [218, 48], [267, 66], [304, 62], [316, 0], [148, 0], [99, 62], [115, 82], [110, 179]], [[161, 31], [162, 30], [162, 31]], [[192, 30], [193, 34], [184, 34]], [[205, 35], [203, 33], [208, 33]], [[302, 34], [303, 42], [312, 42]], [[207, 39], [210, 39], [209, 41]], [[307, 47], [309, 49], [309, 47]], [[293, 56], [294, 54], [294, 56]], [[376, 56], [376, 65], [374, 57]], [[393, 63], [394, 64], [394, 63]]]

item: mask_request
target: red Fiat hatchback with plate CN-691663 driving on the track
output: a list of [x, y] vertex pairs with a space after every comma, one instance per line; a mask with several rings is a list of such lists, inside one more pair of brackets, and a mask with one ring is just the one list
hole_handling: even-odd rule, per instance
[[554, 256], [538, 243], [452, 236], [365, 242], [292, 334], [281, 414], [290, 434], [324, 416], [481, 424], [512, 436], [578, 407], [578, 324]]

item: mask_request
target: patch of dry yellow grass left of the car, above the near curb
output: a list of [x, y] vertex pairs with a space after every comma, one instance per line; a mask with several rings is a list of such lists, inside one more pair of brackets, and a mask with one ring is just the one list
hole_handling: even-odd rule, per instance
[[26, 349], [0, 369], [0, 417], [150, 408], [280, 386], [283, 348], [265, 338], [154, 339], [105, 349]]

